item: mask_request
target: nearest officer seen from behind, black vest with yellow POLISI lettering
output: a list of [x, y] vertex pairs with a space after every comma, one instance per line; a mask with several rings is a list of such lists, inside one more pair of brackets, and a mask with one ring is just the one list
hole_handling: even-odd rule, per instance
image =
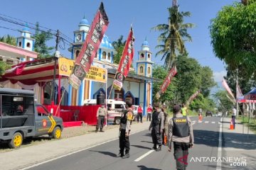
[[174, 118], [169, 121], [168, 150], [171, 152], [171, 142], [174, 142], [174, 158], [176, 169], [186, 170], [188, 166], [188, 148], [193, 147], [193, 128], [190, 118], [183, 116], [181, 107], [174, 105]]

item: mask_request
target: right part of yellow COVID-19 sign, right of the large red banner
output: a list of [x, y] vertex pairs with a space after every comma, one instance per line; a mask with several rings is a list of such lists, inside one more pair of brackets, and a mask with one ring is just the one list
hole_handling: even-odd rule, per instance
[[92, 81], [107, 82], [107, 69], [101, 67], [91, 66], [85, 79]]

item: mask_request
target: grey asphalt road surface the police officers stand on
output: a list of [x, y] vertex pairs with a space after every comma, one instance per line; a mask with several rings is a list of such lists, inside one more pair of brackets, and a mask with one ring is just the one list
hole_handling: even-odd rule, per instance
[[[195, 135], [195, 147], [190, 150], [188, 156], [188, 169], [216, 169], [215, 162], [194, 162], [196, 157], [218, 157], [218, 137], [220, 118], [207, 117], [202, 122], [197, 118], [192, 118]], [[33, 170], [65, 170], [65, 169], [176, 169], [174, 152], [167, 151], [166, 147], [161, 152], [151, 150], [151, 136], [148, 130], [138, 132], [130, 136], [130, 157], [129, 159], [117, 158], [119, 152], [119, 142], [114, 140], [97, 147], [78, 152], [33, 167]], [[148, 154], [138, 162], [135, 160]], [[191, 160], [192, 159], [192, 160]], [[191, 162], [190, 162], [191, 161]]]

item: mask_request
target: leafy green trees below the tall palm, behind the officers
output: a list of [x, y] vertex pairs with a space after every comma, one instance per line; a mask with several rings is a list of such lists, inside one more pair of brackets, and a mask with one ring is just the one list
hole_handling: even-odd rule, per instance
[[[178, 56], [176, 66], [177, 74], [159, 100], [169, 101], [171, 106], [174, 103], [186, 103], [191, 95], [201, 89], [202, 93], [191, 102], [191, 109], [203, 108], [213, 111], [215, 103], [209, 98], [210, 88], [215, 86], [212, 70], [209, 67], [201, 67], [195, 59], [187, 55]], [[159, 91], [168, 73], [164, 67], [154, 66], [153, 77], [161, 81], [154, 83], [153, 95]]]

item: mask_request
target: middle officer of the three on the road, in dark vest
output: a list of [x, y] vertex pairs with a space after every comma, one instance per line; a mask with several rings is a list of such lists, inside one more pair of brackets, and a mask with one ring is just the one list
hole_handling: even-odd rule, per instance
[[152, 149], [156, 149], [156, 151], [161, 150], [161, 144], [162, 144], [161, 134], [164, 130], [164, 113], [161, 111], [161, 108], [159, 108], [159, 106], [160, 106], [159, 102], [154, 103], [155, 110], [152, 114], [152, 120], [149, 126], [149, 130], [151, 130], [152, 128], [151, 136], [154, 144]]

